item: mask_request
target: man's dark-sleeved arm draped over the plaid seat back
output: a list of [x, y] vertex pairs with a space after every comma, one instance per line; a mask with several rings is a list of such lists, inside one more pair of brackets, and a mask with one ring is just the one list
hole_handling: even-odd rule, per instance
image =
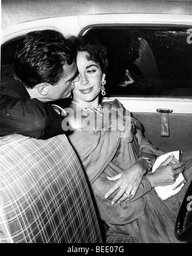
[[35, 98], [0, 95], [0, 136], [17, 133], [45, 140], [63, 133], [62, 121], [63, 116]]

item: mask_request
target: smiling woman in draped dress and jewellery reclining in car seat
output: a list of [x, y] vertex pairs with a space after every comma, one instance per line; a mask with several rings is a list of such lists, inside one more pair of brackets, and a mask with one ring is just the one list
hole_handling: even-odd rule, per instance
[[[143, 138], [140, 123], [118, 100], [99, 104], [108, 63], [105, 48], [86, 36], [73, 40], [79, 82], [70, 104], [76, 118], [69, 114], [68, 119], [76, 129], [68, 138], [88, 176], [101, 219], [135, 242], [179, 242], [174, 224], [191, 180], [191, 153], [184, 156], [186, 163], [171, 155], [150, 173], [163, 152]], [[175, 196], [160, 199], [154, 187], [174, 183], [184, 169], [188, 184]]]

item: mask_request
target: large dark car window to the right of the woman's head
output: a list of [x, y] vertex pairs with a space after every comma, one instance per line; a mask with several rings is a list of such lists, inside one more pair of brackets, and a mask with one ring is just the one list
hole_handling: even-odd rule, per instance
[[90, 30], [108, 50], [107, 94], [191, 98], [189, 32], [189, 28]]

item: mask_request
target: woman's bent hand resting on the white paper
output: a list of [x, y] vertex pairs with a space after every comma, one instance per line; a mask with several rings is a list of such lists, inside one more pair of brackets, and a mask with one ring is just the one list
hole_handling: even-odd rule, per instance
[[159, 165], [157, 170], [152, 174], [147, 174], [146, 177], [152, 187], [172, 185], [181, 172], [184, 171], [184, 161], [175, 160], [173, 154]]

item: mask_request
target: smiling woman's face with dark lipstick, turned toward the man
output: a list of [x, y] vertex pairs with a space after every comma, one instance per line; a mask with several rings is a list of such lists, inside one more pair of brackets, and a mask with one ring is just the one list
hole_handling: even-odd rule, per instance
[[77, 53], [77, 69], [79, 71], [79, 81], [75, 82], [73, 90], [73, 100], [83, 104], [92, 102], [100, 93], [101, 82], [105, 78], [99, 63], [87, 60], [86, 51]]

